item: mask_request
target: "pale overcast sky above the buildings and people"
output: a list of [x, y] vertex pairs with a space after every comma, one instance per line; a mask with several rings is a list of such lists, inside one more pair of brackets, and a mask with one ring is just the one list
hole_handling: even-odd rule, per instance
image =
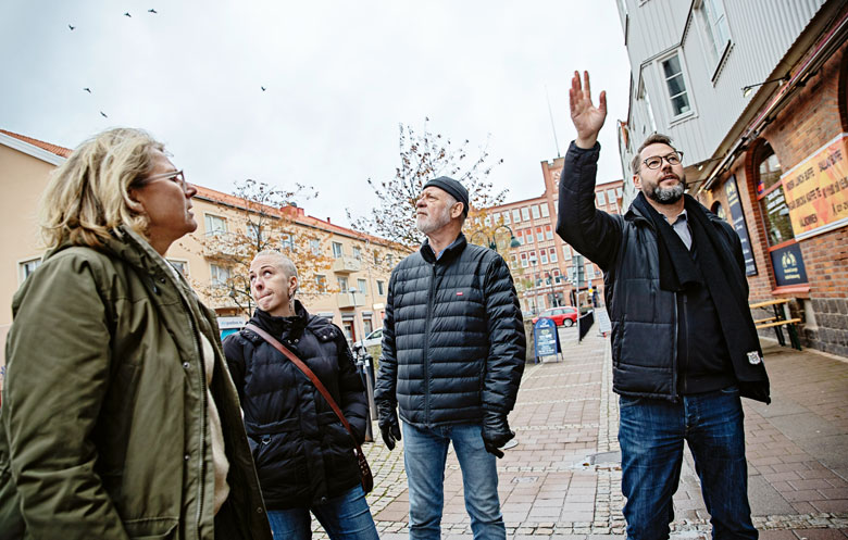
[[615, 0], [2, 0], [0, 46], [0, 128], [74, 148], [142, 127], [190, 181], [310, 185], [307, 213], [334, 223], [374, 204], [366, 180], [394, 176], [398, 125], [425, 116], [504, 160], [490, 180], [508, 201], [537, 197], [558, 151], [546, 88], [564, 154], [575, 68], [608, 91], [599, 181], [622, 175]]

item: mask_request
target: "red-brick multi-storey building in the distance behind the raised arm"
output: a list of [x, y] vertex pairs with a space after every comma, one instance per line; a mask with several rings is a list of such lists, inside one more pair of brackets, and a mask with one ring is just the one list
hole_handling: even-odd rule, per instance
[[[559, 180], [564, 158], [541, 162], [544, 191], [540, 196], [508, 202], [487, 210], [484, 219], [495, 227], [495, 243], [510, 264], [521, 307], [525, 314], [558, 305], [585, 305], [603, 299], [603, 273], [579, 256], [557, 236]], [[604, 212], [621, 211], [622, 180], [599, 184], [595, 188], [596, 206]], [[473, 243], [488, 244], [491, 239], [473, 234]], [[511, 238], [516, 248], [509, 248]], [[584, 281], [575, 287], [574, 271], [583, 266]]]

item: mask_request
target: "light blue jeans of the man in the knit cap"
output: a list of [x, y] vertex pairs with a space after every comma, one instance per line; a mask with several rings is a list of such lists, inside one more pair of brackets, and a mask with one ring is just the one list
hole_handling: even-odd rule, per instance
[[471, 516], [474, 538], [506, 539], [498, 499], [496, 457], [483, 445], [481, 426], [465, 424], [429, 429], [406, 423], [402, 426], [403, 464], [409, 481], [410, 540], [439, 539], [445, 504], [445, 460], [451, 442], [462, 470], [465, 510]]

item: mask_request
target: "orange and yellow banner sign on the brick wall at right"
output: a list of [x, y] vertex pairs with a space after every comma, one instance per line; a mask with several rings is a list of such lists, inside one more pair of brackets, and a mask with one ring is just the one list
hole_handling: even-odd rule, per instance
[[848, 225], [848, 134], [819, 149], [781, 180], [795, 238]]

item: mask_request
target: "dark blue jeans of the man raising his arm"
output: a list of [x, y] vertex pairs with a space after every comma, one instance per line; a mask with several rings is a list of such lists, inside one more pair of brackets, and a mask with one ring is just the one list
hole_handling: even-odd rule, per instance
[[669, 538], [672, 495], [689, 444], [713, 539], [757, 538], [748, 505], [748, 467], [739, 390], [684, 395], [681, 402], [620, 397], [619, 442], [628, 539]]

